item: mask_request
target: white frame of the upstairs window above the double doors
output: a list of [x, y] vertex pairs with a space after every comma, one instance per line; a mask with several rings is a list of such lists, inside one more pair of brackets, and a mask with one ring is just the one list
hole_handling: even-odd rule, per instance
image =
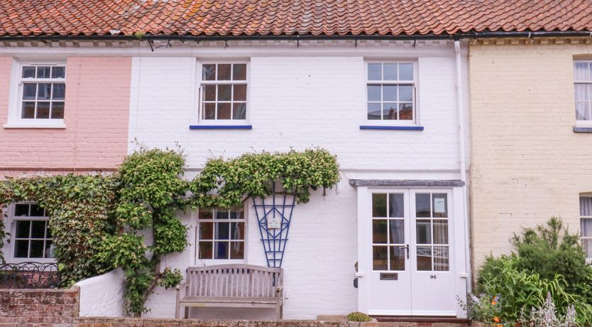
[[[413, 80], [412, 81], [400, 81], [400, 80], [368, 80], [368, 64], [372, 63], [410, 63], [413, 65]], [[413, 106], [413, 119], [411, 120], [398, 120], [398, 119], [380, 119], [373, 120], [368, 119], [368, 85], [412, 85], [412, 106]], [[364, 60], [364, 110], [363, 110], [363, 121], [368, 125], [378, 126], [420, 126], [420, 105], [419, 105], [419, 62], [415, 59], [396, 59], [396, 58], [383, 58], [383, 59], [366, 59]], [[380, 95], [382, 97], [382, 95]], [[382, 108], [381, 108], [382, 109]]]

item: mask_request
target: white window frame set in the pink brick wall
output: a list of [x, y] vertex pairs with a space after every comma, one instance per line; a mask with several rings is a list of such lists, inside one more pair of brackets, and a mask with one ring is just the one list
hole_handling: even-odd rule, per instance
[[[24, 66], [57, 66], [64, 67], [65, 77], [63, 79], [44, 78], [44, 79], [28, 79], [23, 78]], [[9, 95], [9, 117], [8, 122], [3, 125], [4, 128], [57, 128], [63, 129], [66, 127], [64, 119], [36, 119], [36, 118], [21, 118], [21, 111], [23, 106], [23, 84], [25, 82], [66, 82], [67, 67], [65, 60], [13, 60], [11, 68], [11, 89]], [[66, 114], [64, 109], [64, 114]]]

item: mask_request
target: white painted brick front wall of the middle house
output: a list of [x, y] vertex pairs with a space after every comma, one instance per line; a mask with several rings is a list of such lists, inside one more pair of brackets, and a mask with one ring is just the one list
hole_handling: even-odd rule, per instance
[[[329, 47], [327, 47], [329, 48]], [[284, 318], [316, 318], [319, 314], [346, 314], [357, 309], [353, 266], [357, 260], [356, 189], [349, 178], [459, 179], [458, 124], [456, 122], [454, 49], [427, 53], [413, 48], [376, 48], [381, 58], [415, 59], [420, 125], [424, 131], [360, 130], [366, 120], [365, 58], [373, 48], [344, 50], [342, 55], [319, 55], [319, 49], [285, 50], [270, 56], [261, 49], [241, 52], [219, 48], [182, 56], [133, 58], [130, 141], [146, 146], [179, 144], [187, 156], [188, 177], [212, 156], [231, 158], [253, 151], [302, 150], [322, 146], [336, 154], [341, 165], [337, 190], [314, 193], [307, 204], [297, 205], [285, 253], [286, 304]], [[393, 57], [385, 57], [390, 50]], [[234, 52], [233, 52], [234, 51]], [[356, 55], [363, 51], [363, 55]], [[339, 55], [339, 56], [338, 56]], [[190, 130], [197, 110], [196, 67], [199, 58], [249, 59], [248, 124], [252, 130]], [[197, 57], [197, 58], [196, 58]], [[135, 146], [130, 145], [133, 151]], [[461, 219], [458, 215], [458, 219]], [[190, 247], [165, 259], [184, 271], [196, 262], [196, 218], [191, 225]], [[256, 218], [248, 212], [246, 262], [265, 265]], [[459, 235], [461, 230], [457, 231]], [[464, 289], [461, 287], [461, 289]], [[148, 299], [146, 316], [172, 317], [175, 291], [157, 289]], [[271, 311], [197, 309], [203, 318], [273, 318]]]

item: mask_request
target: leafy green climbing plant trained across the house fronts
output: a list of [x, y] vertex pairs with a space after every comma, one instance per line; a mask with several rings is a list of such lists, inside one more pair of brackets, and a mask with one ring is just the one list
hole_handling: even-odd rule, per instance
[[[50, 216], [62, 286], [121, 267], [127, 311], [139, 316], [155, 286], [182, 281], [178, 269], [161, 267], [163, 257], [187, 247], [180, 211], [239, 205], [270, 195], [273, 183], [306, 203], [311, 190], [339, 181], [336, 156], [324, 149], [209, 159], [193, 181], [183, 178], [184, 165], [178, 151], [140, 149], [111, 175], [7, 178], [0, 181], [0, 209], [18, 201], [39, 203]], [[0, 223], [0, 248], [5, 238]]]

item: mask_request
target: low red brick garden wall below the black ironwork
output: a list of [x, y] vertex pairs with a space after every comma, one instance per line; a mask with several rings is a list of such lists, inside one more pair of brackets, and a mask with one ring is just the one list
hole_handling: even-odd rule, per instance
[[80, 289], [0, 289], [0, 323], [72, 323]]

